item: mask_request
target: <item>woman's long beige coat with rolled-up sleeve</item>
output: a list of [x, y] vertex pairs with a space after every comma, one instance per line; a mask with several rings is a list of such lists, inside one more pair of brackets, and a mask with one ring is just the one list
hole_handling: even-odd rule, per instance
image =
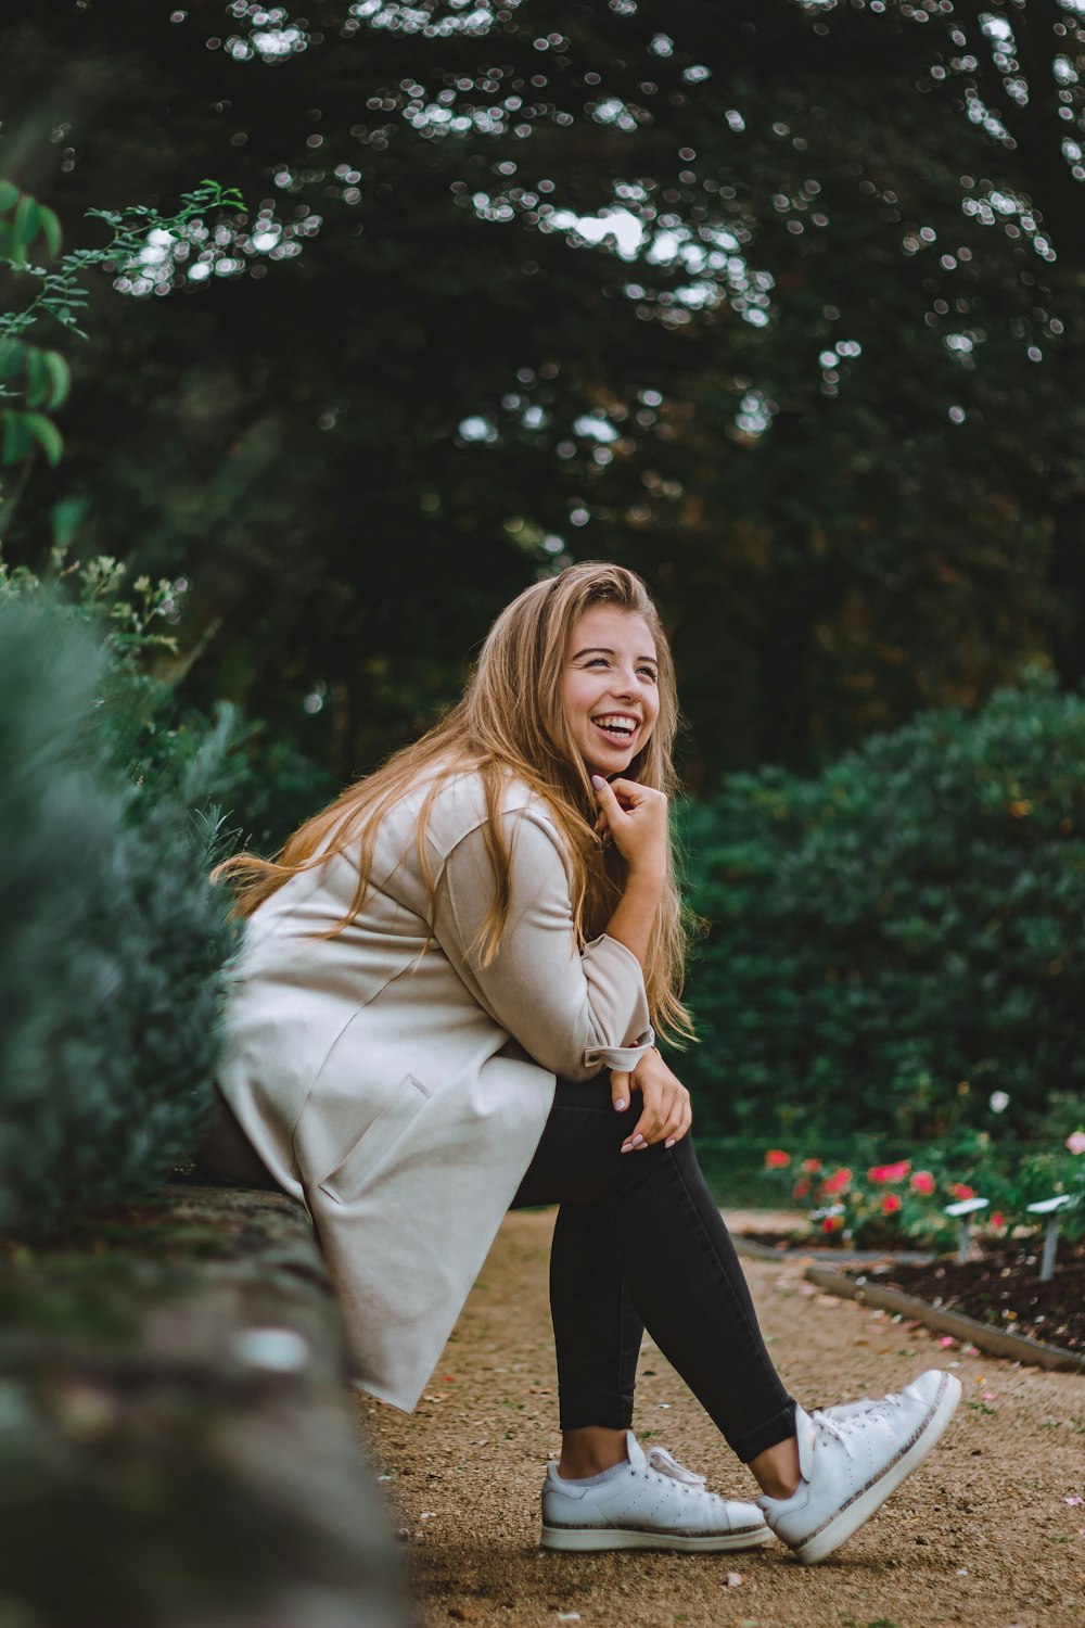
[[[481, 1267], [553, 1101], [555, 1076], [628, 1068], [651, 1045], [636, 957], [577, 951], [564, 848], [511, 785], [512, 910], [473, 949], [491, 899], [481, 783], [434, 801], [429, 913], [420, 793], [382, 821], [361, 915], [335, 856], [252, 915], [226, 1014], [223, 1096], [280, 1185], [307, 1205], [346, 1315], [358, 1382], [413, 1408]], [[423, 954], [425, 949], [425, 954]], [[605, 1076], [600, 1081], [605, 1089]]]

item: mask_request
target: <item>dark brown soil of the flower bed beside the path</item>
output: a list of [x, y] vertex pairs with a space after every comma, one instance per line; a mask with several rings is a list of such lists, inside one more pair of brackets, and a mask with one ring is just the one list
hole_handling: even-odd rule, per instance
[[[849, 1268], [852, 1275], [856, 1270]], [[1039, 1281], [1039, 1254], [1031, 1242], [987, 1249], [979, 1260], [942, 1257], [926, 1265], [862, 1270], [867, 1278], [932, 1306], [1028, 1333], [1064, 1351], [1085, 1351], [1085, 1245], [1064, 1244], [1048, 1283]]]

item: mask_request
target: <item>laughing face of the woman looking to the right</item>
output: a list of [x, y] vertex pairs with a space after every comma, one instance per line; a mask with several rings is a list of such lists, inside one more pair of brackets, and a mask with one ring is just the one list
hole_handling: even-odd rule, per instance
[[659, 718], [656, 640], [644, 617], [592, 606], [573, 625], [561, 710], [590, 775], [623, 773]]

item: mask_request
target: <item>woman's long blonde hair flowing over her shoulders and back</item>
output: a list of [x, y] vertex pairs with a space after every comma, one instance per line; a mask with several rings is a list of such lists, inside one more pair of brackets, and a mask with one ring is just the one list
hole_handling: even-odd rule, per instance
[[[384, 814], [418, 781], [428, 783], [416, 843], [431, 904], [436, 879], [426, 848], [426, 822], [441, 786], [465, 770], [480, 777], [488, 821], [483, 825], [493, 866], [495, 897], [481, 933], [481, 964], [498, 952], [511, 904], [511, 850], [501, 822], [509, 778], [532, 788], [548, 806], [571, 860], [573, 915], [581, 944], [602, 933], [626, 882], [626, 863], [595, 832], [595, 794], [561, 707], [561, 677], [569, 633], [592, 606], [615, 606], [644, 619], [656, 640], [659, 718], [623, 778], [673, 794], [672, 764], [678, 703], [667, 637], [647, 588], [618, 565], [571, 565], [527, 588], [493, 624], [464, 698], [413, 746], [395, 752], [306, 821], [275, 860], [239, 853], [215, 871], [237, 887], [234, 915], [247, 917], [291, 876], [355, 850], [358, 886], [342, 931], [358, 915], [369, 889], [373, 850]], [[693, 1034], [682, 1004], [688, 917], [672, 874], [660, 899], [646, 956], [644, 985], [656, 1027], [667, 1039]]]

